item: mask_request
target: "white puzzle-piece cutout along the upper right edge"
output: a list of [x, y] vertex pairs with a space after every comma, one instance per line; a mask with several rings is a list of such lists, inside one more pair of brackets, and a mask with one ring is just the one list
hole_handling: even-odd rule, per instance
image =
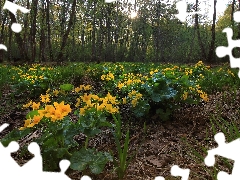
[[[236, 22], [240, 22], [240, 11], [234, 13], [234, 20]], [[216, 48], [216, 55], [219, 58], [223, 58], [225, 56], [229, 56], [230, 59], [230, 66], [231, 68], [240, 68], [240, 58], [234, 58], [232, 55], [232, 50], [236, 47], [240, 48], [240, 39], [233, 40], [233, 30], [231, 28], [223, 29], [224, 33], [226, 33], [227, 40], [228, 40], [228, 47], [219, 46]], [[238, 72], [238, 77], [240, 78], [240, 71]]]

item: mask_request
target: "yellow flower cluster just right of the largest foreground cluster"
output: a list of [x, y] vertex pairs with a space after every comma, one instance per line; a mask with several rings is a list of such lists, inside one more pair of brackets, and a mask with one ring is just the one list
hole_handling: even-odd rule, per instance
[[116, 100], [116, 97], [113, 97], [109, 92], [106, 97], [100, 98], [98, 95], [87, 94], [85, 93], [80, 98], [77, 98], [76, 107], [80, 105], [83, 107], [80, 108], [80, 115], [84, 115], [86, 110], [91, 108], [96, 108], [97, 111], [107, 111], [111, 114], [119, 112], [117, 104], [119, 104]]

